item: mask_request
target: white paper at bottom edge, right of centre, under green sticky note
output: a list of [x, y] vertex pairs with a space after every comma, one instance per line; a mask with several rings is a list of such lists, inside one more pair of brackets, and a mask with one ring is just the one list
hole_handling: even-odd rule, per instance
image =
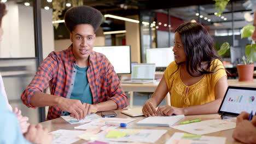
[[[189, 137], [184, 136], [185, 133], [174, 133], [166, 144], [193, 144], [193, 143], [207, 143], [207, 144], [225, 144], [226, 137], [217, 137], [217, 136], [200, 136], [199, 139], [190, 139]], [[195, 135], [196, 137], [196, 135]]]

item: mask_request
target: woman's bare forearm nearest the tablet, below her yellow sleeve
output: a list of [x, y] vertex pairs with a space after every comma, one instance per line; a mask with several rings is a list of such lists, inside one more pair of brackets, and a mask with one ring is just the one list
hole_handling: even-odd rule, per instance
[[216, 99], [203, 105], [184, 107], [184, 115], [203, 115], [217, 113], [220, 103], [222, 103], [222, 99]]

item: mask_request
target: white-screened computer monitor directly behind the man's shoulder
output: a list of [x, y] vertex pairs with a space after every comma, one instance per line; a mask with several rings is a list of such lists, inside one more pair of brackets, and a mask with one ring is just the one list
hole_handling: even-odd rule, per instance
[[131, 74], [131, 46], [94, 46], [94, 51], [105, 55], [117, 74]]

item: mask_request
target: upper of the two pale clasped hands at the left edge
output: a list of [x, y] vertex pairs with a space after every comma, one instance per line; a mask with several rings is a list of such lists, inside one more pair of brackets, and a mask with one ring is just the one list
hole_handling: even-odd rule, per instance
[[28, 117], [22, 116], [21, 111], [18, 110], [17, 107], [15, 107], [15, 109], [13, 110], [13, 113], [15, 113], [15, 115], [18, 117], [21, 133], [22, 134], [26, 133], [28, 126], [30, 126], [30, 123], [27, 122]]

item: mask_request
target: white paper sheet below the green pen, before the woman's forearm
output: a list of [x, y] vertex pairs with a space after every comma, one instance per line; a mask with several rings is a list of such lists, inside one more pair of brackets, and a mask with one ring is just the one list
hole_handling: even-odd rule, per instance
[[223, 121], [221, 119], [211, 119], [196, 123], [181, 124], [172, 126], [171, 128], [186, 131], [187, 133], [203, 135], [215, 133], [217, 131], [232, 129], [236, 127], [236, 123]]

